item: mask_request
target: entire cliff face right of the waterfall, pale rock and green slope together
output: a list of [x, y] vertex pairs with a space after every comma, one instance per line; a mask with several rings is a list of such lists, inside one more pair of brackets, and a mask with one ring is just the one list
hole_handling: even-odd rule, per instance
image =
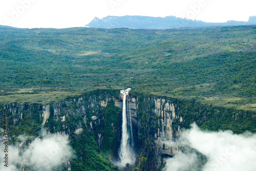
[[181, 150], [177, 144], [182, 137], [182, 129], [189, 129], [193, 122], [208, 131], [256, 132], [254, 112], [202, 104], [197, 98], [178, 100], [135, 96], [140, 149], [137, 167], [142, 170], [161, 170], [164, 159]]

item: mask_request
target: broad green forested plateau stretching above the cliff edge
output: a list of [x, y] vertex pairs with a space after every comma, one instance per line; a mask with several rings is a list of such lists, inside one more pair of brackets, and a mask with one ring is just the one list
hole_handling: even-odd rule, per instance
[[0, 103], [124, 89], [256, 109], [256, 27], [0, 29]]

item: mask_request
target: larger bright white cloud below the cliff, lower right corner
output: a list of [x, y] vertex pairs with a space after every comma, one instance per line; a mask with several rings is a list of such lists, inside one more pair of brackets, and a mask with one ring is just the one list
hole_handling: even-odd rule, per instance
[[[190, 150], [167, 159], [164, 170], [253, 171], [256, 168], [256, 135], [237, 135], [231, 131], [203, 132], [194, 123], [183, 137], [180, 145]], [[193, 150], [206, 156], [205, 164]]]

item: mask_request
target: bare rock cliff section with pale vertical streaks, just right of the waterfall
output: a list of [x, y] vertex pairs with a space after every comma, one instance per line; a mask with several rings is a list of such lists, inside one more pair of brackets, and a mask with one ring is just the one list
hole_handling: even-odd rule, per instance
[[[137, 164], [143, 170], [159, 170], [165, 158], [173, 157], [179, 148], [176, 145], [181, 134], [183, 118], [176, 114], [177, 104], [170, 99], [137, 98], [138, 135], [140, 158]], [[146, 124], [147, 123], [147, 124]], [[164, 141], [173, 142], [167, 146]]]

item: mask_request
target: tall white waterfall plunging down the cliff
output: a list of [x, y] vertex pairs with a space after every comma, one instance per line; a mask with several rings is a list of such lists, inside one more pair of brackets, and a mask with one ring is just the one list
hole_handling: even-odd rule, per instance
[[[134, 164], [135, 162], [135, 154], [133, 152], [133, 138], [132, 138], [132, 119], [131, 119], [131, 109], [128, 108], [129, 101], [127, 100], [127, 116], [129, 116], [129, 120], [126, 117], [126, 96], [129, 94], [131, 89], [128, 88], [126, 90], [121, 90], [121, 94], [123, 94], [123, 111], [122, 111], [122, 137], [121, 137], [121, 145], [119, 151], [120, 157], [120, 166], [125, 166], [126, 163]], [[129, 124], [127, 124], [127, 121]], [[130, 127], [128, 130], [127, 127]], [[130, 133], [130, 134], [129, 134]], [[131, 137], [129, 136], [131, 135]]]

